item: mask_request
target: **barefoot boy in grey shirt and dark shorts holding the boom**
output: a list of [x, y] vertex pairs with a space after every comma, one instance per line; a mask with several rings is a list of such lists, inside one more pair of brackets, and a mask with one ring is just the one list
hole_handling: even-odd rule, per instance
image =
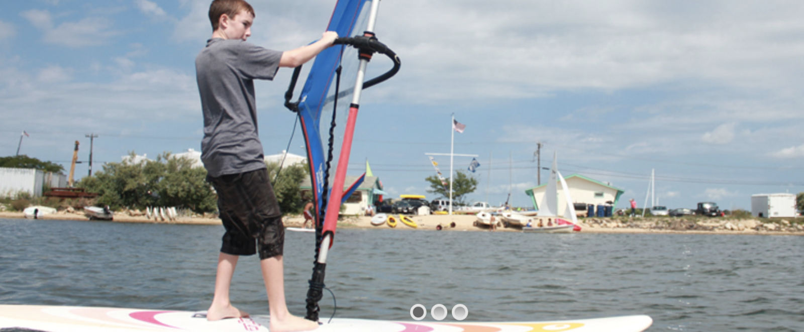
[[226, 231], [207, 320], [248, 316], [232, 305], [229, 288], [238, 257], [259, 253], [271, 315], [269, 330], [314, 330], [317, 322], [291, 315], [285, 305], [285, 227], [257, 130], [254, 80], [273, 80], [280, 67], [310, 61], [332, 46], [338, 34], [326, 31], [310, 45], [273, 51], [246, 42], [254, 17], [254, 9], [244, 0], [213, 1], [209, 8], [212, 36], [195, 58], [204, 124], [201, 159], [207, 181], [218, 194]]

